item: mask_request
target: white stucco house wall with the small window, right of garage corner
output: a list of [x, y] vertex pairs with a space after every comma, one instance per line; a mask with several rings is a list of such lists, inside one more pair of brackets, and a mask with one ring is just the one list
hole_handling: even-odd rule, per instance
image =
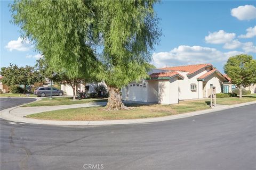
[[[185, 100], [185, 99], [196, 99], [196, 98], [203, 98], [203, 85], [202, 82], [197, 81], [197, 78], [201, 75], [205, 74], [207, 71], [205, 69], [201, 69], [197, 72], [195, 72], [191, 76], [187, 76], [188, 72], [180, 72], [180, 74], [183, 75], [183, 80], [178, 80], [179, 82], [179, 99]], [[190, 84], [196, 84], [196, 91], [191, 91]]]

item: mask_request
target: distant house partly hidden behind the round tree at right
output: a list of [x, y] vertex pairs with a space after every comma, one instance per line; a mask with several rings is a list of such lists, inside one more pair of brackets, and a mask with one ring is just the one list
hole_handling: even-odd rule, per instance
[[[223, 74], [227, 81], [223, 82], [223, 93], [232, 92], [232, 90], [236, 89], [236, 85], [231, 82], [231, 79], [228, 77], [227, 74]], [[245, 87], [245, 90], [250, 90], [251, 94], [256, 94], [256, 84], [251, 84], [248, 87]]]

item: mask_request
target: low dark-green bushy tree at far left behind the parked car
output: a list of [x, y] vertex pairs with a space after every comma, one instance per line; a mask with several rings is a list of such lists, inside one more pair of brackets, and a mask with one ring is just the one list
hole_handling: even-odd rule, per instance
[[33, 66], [26, 65], [25, 67], [18, 67], [10, 64], [9, 67], [2, 67], [0, 74], [3, 76], [1, 81], [8, 86], [23, 85], [26, 93], [26, 86], [36, 82], [44, 82], [44, 78], [39, 74], [38, 70]]

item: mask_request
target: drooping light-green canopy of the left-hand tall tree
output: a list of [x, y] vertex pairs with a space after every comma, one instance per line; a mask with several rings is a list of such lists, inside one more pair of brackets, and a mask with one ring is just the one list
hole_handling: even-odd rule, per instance
[[[13, 22], [22, 37], [42, 53], [47, 67], [68, 80], [91, 80], [98, 72], [94, 55], [91, 1], [15, 1]], [[77, 81], [73, 81], [77, 82]]]

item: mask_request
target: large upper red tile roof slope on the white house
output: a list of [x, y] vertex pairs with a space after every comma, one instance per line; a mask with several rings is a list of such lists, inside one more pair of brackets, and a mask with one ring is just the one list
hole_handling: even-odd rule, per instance
[[161, 68], [163, 70], [171, 70], [171, 71], [185, 71], [188, 74], [193, 74], [196, 71], [203, 69], [204, 67], [212, 66], [212, 64], [196, 64], [196, 65], [184, 65], [184, 66], [175, 66], [175, 67], [165, 67]]

